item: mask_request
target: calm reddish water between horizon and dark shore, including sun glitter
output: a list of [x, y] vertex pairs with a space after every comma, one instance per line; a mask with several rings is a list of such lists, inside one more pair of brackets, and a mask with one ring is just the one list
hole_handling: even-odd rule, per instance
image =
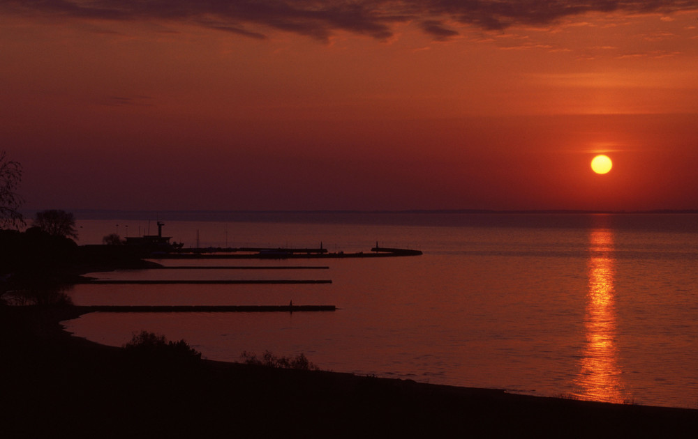
[[[223, 214], [221, 214], [223, 215]], [[224, 216], [224, 215], [223, 215]], [[336, 305], [329, 313], [89, 314], [68, 330], [120, 346], [148, 330], [205, 357], [304, 353], [322, 369], [511, 392], [698, 408], [697, 215], [260, 215], [166, 221], [200, 245], [421, 249], [386, 259], [210, 261], [318, 270], [145, 270], [110, 279], [332, 284], [75, 286], [78, 305]], [[117, 226], [116, 224], [119, 224]], [[147, 222], [80, 222], [81, 243]], [[151, 223], [154, 225], [154, 222]], [[154, 229], [154, 227], [153, 227]], [[156, 233], [156, 229], [151, 233]], [[172, 261], [161, 261], [174, 265]], [[190, 261], [186, 265], [191, 265]]]

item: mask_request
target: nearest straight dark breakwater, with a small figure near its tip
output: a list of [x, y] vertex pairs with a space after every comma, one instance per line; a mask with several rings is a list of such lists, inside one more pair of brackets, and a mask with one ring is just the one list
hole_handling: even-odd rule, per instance
[[87, 305], [75, 306], [80, 314], [90, 312], [306, 312], [336, 311], [335, 305]]

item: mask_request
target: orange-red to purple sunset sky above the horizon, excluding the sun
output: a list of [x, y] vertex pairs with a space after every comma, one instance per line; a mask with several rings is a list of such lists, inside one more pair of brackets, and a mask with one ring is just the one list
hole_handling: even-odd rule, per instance
[[698, 208], [698, 1], [423, 3], [0, 1], [26, 207]]

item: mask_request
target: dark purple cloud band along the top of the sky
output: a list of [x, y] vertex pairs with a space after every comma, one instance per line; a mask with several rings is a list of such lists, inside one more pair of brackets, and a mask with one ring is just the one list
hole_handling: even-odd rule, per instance
[[[318, 40], [348, 31], [386, 40], [392, 27], [418, 22], [436, 40], [456, 36], [443, 20], [499, 30], [549, 24], [584, 13], [698, 10], [697, 0], [0, 0], [0, 11], [97, 20], [174, 20], [265, 38], [279, 29]], [[666, 18], [664, 18], [666, 20]]]

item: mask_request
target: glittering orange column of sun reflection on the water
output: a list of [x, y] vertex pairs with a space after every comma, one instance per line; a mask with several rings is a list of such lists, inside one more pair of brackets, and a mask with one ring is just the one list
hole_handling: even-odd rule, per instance
[[590, 236], [588, 293], [580, 371], [574, 380], [581, 399], [623, 403], [623, 379], [616, 346], [616, 290], [613, 233], [594, 229]]

